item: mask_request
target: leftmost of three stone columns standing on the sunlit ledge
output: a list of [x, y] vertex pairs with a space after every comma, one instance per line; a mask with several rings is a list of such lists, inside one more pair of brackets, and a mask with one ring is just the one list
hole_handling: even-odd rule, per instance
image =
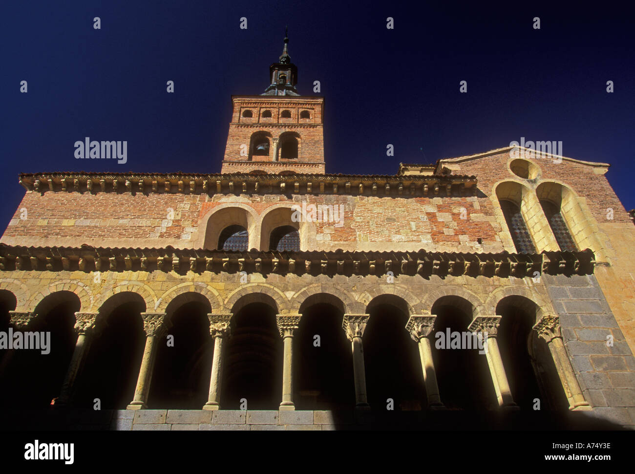
[[152, 369], [156, 360], [156, 342], [170, 326], [166, 313], [141, 313], [144, 319], [145, 349], [141, 362], [135, 398], [128, 405], [128, 410], [140, 410], [147, 408], [150, 382], [152, 381]]

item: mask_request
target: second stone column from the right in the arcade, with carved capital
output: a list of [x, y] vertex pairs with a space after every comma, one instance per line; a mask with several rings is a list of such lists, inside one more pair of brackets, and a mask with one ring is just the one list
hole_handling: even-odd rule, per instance
[[[505, 409], [517, 410], [518, 405], [512, 398], [503, 360], [500, 357], [500, 351], [498, 351], [496, 337], [500, 318], [501, 316], [477, 316], [470, 324], [469, 330], [483, 336], [485, 353], [490, 357], [488, 365], [490, 367], [491, 380], [494, 383], [494, 388], [497, 388], [498, 405]], [[500, 395], [498, 395], [499, 393]]]

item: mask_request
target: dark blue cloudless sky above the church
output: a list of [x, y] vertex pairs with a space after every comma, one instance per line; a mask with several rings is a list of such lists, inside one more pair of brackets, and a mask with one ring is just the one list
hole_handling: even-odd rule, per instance
[[[635, 208], [635, 20], [613, 3], [597, 11], [233, 0], [0, 9], [3, 229], [24, 193], [20, 172], [220, 172], [231, 95], [265, 90], [284, 25], [298, 91], [313, 95], [321, 81], [326, 172], [394, 174], [399, 162], [434, 163], [521, 137], [561, 140], [565, 156], [611, 163], [608, 179]], [[128, 163], [75, 159], [84, 137], [127, 140]]]

